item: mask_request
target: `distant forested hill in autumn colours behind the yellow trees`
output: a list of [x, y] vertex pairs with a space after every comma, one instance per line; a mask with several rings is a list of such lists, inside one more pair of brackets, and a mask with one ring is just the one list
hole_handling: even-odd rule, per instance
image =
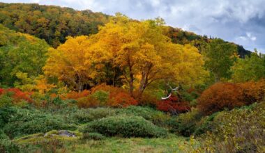
[[[98, 25], [107, 23], [109, 15], [91, 10], [74, 10], [59, 6], [43, 6], [37, 3], [0, 3], [0, 24], [45, 39], [52, 47], [66, 41], [68, 35], [90, 35], [98, 32]], [[172, 42], [192, 44], [202, 51], [211, 38], [169, 27], [167, 33]], [[239, 56], [244, 58], [250, 51], [236, 45]]]

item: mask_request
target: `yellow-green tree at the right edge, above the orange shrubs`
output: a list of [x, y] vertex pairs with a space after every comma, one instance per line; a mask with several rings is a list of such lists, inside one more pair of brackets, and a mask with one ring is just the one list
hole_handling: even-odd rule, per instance
[[257, 81], [265, 77], [265, 57], [262, 54], [252, 53], [250, 56], [238, 58], [232, 67], [234, 82]]

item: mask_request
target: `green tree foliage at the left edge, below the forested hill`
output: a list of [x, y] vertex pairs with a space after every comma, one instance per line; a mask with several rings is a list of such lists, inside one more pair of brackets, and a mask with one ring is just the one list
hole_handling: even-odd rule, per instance
[[[1, 5], [1, 4], [0, 4]], [[29, 78], [43, 73], [48, 45], [31, 35], [16, 33], [0, 24], [0, 83], [6, 86], [21, 83], [16, 74]]]

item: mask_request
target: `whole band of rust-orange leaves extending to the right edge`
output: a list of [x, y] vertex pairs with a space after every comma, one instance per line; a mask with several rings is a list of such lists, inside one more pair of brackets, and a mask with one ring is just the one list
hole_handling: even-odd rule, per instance
[[197, 99], [199, 110], [206, 115], [225, 108], [232, 109], [238, 106], [259, 102], [265, 97], [265, 81], [246, 83], [215, 83], [204, 90]]

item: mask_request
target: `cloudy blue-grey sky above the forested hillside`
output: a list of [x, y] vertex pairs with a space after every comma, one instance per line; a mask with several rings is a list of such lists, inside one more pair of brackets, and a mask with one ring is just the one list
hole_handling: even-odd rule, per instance
[[169, 26], [235, 42], [265, 54], [265, 0], [0, 0], [123, 13], [132, 19], [162, 17]]

